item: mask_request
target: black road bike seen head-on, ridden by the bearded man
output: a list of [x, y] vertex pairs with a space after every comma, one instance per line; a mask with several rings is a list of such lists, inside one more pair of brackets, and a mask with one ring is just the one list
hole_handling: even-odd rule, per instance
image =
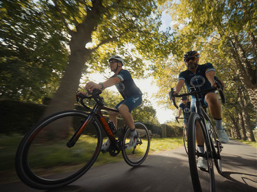
[[[215, 191], [215, 174], [214, 174], [214, 164], [217, 167], [219, 174], [222, 173], [221, 167], [221, 150], [223, 146], [218, 139], [217, 132], [215, 127], [208, 117], [206, 108], [201, 104], [199, 100], [199, 95], [201, 93], [209, 93], [210, 91], [219, 91], [221, 101], [225, 104], [225, 97], [223, 95], [223, 86], [221, 82], [215, 77], [215, 82], [217, 87], [210, 88], [204, 91], [196, 91], [195, 87], [191, 87], [191, 93], [185, 93], [182, 95], [174, 95], [173, 88], [171, 88], [171, 97], [173, 97], [173, 104], [178, 108], [175, 103], [175, 97], [184, 97], [188, 95], [195, 95], [195, 110], [196, 112], [191, 112], [191, 115], [188, 118], [188, 162], [191, 173], [191, 180], [193, 183], [193, 189], [195, 192], [199, 191]], [[198, 129], [199, 128], [199, 129]], [[197, 150], [197, 141], [196, 141], [196, 132], [201, 132], [204, 137], [204, 153], [201, 153]], [[202, 169], [197, 167], [197, 160], [199, 157], [203, 157], [207, 161], [207, 168]]]

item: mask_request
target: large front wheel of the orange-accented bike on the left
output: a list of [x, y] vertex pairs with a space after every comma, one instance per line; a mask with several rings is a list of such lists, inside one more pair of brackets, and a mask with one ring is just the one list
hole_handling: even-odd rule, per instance
[[83, 176], [101, 149], [99, 124], [91, 120], [73, 147], [66, 143], [87, 117], [86, 112], [66, 110], [36, 123], [16, 152], [16, 173], [21, 181], [35, 189], [55, 189]]

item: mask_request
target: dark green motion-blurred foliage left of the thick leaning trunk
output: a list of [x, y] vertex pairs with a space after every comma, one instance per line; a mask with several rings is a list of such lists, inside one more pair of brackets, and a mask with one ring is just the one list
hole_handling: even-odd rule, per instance
[[56, 91], [68, 51], [62, 25], [33, 1], [1, 2], [0, 97], [40, 101]]

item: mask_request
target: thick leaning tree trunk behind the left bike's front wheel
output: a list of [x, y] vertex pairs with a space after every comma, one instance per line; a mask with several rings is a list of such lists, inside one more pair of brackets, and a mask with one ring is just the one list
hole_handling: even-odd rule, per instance
[[[54, 112], [73, 109], [75, 91], [77, 91], [79, 86], [82, 71], [84, 67], [86, 67], [85, 63], [92, 52], [90, 49], [86, 49], [86, 43], [90, 43], [93, 31], [99, 21], [101, 21], [102, 14], [99, 11], [100, 9], [101, 0], [94, 1], [93, 7], [91, 10], [88, 10], [84, 22], [76, 26], [76, 32], [71, 32], [71, 41], [69, 43], [71, 54], [69, 56], [69, 62], [66, 66], [60, 86], [53, 95], [43, 117], [49, 116]], [[65, 138], [69, 134], [71, 120], [72, 119], [70, 119], [69, 122], [62, 122], [60, 125], [55, 126], [56, 129], [62, 129], [60, 132], [62, 136], [60, 136], [60, 138]]]

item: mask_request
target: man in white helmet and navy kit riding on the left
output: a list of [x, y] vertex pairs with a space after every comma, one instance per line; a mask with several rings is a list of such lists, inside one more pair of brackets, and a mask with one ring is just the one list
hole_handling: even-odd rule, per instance
[[[142, 103], [142, 92], [134, 83], [130, 72], [122, 69], [124, 60], [120, 56], [112, 56], [109, 58], [110, 70], [114, 72], [114, 75], [110, 77], [105, 82], [100, 82], [99, 84], [95, 82], [88, 82], [86, 84], [86, 91], [93, 91], [95, 88], [103, 90], [110, 86], [116, 86], [119, 93], [121, 93], [123, 100], [119, 102], [114, 108], [119, 110], [119, 112], [110, 111], [109, 119], [117, 126], [117, 117], [118, 115], [122, 115], [124, 121], [127, 126], [130, 128], [131, 137], [130, 143], [127, 148], [132, 148], [136, 146], [136, 142], [138, 141], [138, 132], [136, 132], [136, 128], [134, 125], [133, 117], [131, 112], [134, 108], [139, 106]], [[79, 92], [77, 94], [86, 94]], [[108, 152], [108, 148], [110, 147], [110, 139], [108, 139], [105, 143], [103, 143], [101, 147], [102, 152]]]

